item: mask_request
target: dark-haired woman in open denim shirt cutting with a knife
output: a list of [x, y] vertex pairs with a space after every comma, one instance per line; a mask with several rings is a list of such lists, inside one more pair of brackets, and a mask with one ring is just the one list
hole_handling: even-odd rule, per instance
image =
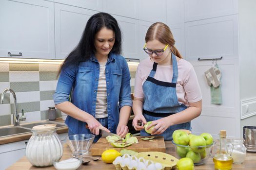
[[128, 133], [131, 78], [120, 53], [117, 20], [107, 13], [90, 17], [78, 46], [59, 70], [54, 94], [55, 106], [68, 115], [69, 135], [92, 133], [97, 141], [99, 130], [122, 137]]

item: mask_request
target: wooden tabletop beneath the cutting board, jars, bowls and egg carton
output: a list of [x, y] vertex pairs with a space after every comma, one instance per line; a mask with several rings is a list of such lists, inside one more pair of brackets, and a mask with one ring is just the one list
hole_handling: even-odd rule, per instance
[[[171, 141], [165, 141], [166, 153], [169, 153], [175, 157], [175, 148]], [[63, 145], [63, 156], [61, 159], [67, 159], [70, 157], [71, 150], [67, 144]], [[246, 153], [246, 158], [243, 164], [233, 164], [232, 170], [256, 170], [256, 153]], [[33, 167], [26, 156], [22, 157], [19, 161], [14, 163], [12, 166], [7, 168], [7, 170], [55, 170], [53, 166], [45, 168]], [[116, 170], [114, 165], [105, 164], [101, 158], [98, 161], [91, 161], [87, 165], [81, 165], [78, 170]], [[195, 167], [195, 170], [214, 170], [213, 158], [210, 157], [204, 165], [199, 165]]]

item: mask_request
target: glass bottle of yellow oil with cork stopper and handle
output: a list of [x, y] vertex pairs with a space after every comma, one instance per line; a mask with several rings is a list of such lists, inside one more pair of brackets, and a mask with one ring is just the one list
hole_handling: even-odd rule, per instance
[[[230, 150], [228, 151], [228, 148]], [[227, 146], [226, 131], [221, 130], [219, 133], [219, 150], [213, 157], [214, 167], [217, 170], [231, 170], [233, 158], [230, 156], [232, 153], [233, 145]]]

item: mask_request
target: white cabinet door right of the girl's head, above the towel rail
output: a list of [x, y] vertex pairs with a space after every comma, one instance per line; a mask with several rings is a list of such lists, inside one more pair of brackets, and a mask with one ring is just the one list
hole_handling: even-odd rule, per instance
[[186, 59], [238, 58], [238, 16], [185, 23]]

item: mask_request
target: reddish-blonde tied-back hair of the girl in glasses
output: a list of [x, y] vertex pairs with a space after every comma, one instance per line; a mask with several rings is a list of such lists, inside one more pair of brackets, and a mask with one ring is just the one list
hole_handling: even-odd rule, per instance
[[177, 57], [182, 58], [181, 54], [174, 46], [175, 40], [173, 34], [166, 24], [162, 22], [156, 22], [148, 28], [145, 36], [145, 41], [148, 42], [154, 39], [158, 40], [162, 44], [169, 44], [172, 53]]

